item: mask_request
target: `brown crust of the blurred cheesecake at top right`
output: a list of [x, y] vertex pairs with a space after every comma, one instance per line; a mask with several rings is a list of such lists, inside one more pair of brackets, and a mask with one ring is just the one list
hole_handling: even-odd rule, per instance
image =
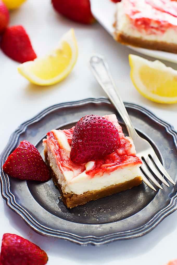
[[177, 53], [177, 44], [174, 43], [166, 43], [163, 41], [148, 41], [143, 38], [128, 36], [121, 32], [120, 33], [115, 32], [115, 40], [124, 45], [131, 45], [151, 50]]

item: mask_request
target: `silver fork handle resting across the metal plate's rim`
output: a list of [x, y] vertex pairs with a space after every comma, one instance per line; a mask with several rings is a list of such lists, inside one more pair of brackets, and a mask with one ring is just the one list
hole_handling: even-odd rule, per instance
[[102, 89], [105, 91], [108, 98], [113, 103], [114, 107], [116, 108], [120, 116], [122, 117], [127, 127], [129, 136], [132, 139], [137, 138], [138, 135], [135, 131], [135, 128], [132, 125], [132, 122], [129, 118], [129, 115], [124, 106], [124, 103], [122, 99], [120, 98], [118, 90], [115, 89], [115, 85], [111, 77], [110, 70], [109, 70], [106, 60], [101, 55], [93, 55], [90, 58], [90, 66], [91, 66], [94, 76], [96, 77], [96, 80], [98, 81], [98, 83], [100, 84]]

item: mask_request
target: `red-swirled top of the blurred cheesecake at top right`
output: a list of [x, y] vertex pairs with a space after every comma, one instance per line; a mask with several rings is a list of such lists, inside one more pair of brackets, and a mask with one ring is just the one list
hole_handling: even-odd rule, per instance
[[163, 34], [177, 26], [177, 2], [172, 5], [170, 0], [123, 0], [122, 4], [132, 27], [146, 34]]

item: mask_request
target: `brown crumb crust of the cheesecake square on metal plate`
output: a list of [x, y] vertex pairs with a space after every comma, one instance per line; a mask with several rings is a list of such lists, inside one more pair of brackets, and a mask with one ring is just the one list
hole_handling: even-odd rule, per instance
[[[47, 165], [49, 166], [47, 153], [45, 153], [45, 159], [46, 159]], [[112, 195], [114, 193], [125, 191], [126, 189], [131, 189], [133, 187], [139, 186], [142, 183], [141, 176], [137, 176], [136, 178], [126, 181], [124, 183], [119, 183], [117, 185], [111, 185], [109, 187], [106, 187], [100, 190], [87, 191], [79, 195], [75, 193], [63, 193], [62, 188], [60, 184], [58, 183], [55, 173], [50, 168], [50, 166], [49, 166], [49, 169], [51, 172], [53, 182], [58, 187], [60, 194], [62, 196], [62, 200], [68, 208], [73, 208], [79, 205], [84, 205], [89, 201], [95, 201], [97, 199]]]

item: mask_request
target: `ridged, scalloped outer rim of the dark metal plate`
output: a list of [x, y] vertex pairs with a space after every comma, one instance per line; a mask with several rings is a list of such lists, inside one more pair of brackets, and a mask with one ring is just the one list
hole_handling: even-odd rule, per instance
[[[50, 111], [53, 111], [55, 108], [64, 108], [64, 107], [72, 107], [72, 106], [78, 106], [78, 105], [84, 105], [88, 103], [107, 103], [111, 104], [111, 102], [105, 98], [88, 98], [88, 99], [83, 99], [79, 101], [72, 101], [72, 102], [65, 102], [65, 103], [59, 103], [55, 104], [53, 106], [50, 106], [40, 113], [38, 113], [36, 116], [34, 116], [32, 119], [27, 120], [26, 122], [22, 123], [15, 131], [14, 133], [11, 134], [10, 139], [4, 148], [3, 152], [1, 153], [0, 156], [0, 163], [1, 163], [1, 194], [3, 199], [6, 201], [6, 205], [15, 213], [17, 213], [27, 224], [30, 226], [34, 231], [40, 233], [41, 235], [44, 236], [51, 236], [51, 237], [57, 237], [57, 238], [62, 238], [65, 240], [69, 240], [71, 242], [75, 242], [80, 245], [87, 245], [87, 244], [92, 244], [92, 245], [102, 245], [106, 244], [115, 240], [123, 240], [123, 239], [131, 239], [131, 238], [136, 238], [145, 235], [146, 233], [150, 232], [152, 229], [154, 229], [165, 217], [167, 217], [169, 214], [173, 213], [177, 209], [177, 194], [175, 194], [171, 200], [169, 205], [167, 205], [165, 208], [160, 210], [152, 219], [149, 220], [149, 222], [146, 223], [146, 225], [143, 225], [141, 227], [138, 227], [136, 229], [128, 230], [128, 231], [123, 231], [123, 232], [116, 232], [116, 233], [111, 233], [103, 236], [79, 236], [74, 233], [69, 233], [66, 231], [60, 231], [60, 230], [55, 230], [51, 229], [49, 227], [45, 227], [42, 224], [38, 223], [36, 219], [32, 217], [31, 214], [28, 213], [27, 210], [25, 210], [23, 207], [21, 207], [18, 202], [15, 199], [15, 196], [11, 193], [10, 191], [10, 183], [8, 178], [3, 173], [2, 170], [2, 165], [5, 162], [5, 159], [7, 155], [11, 152], [11, 150], [15, 147], [19, 135], [23, 133], [27, 126], [29, 124], [32, 124], [34, 122], [37, 122], [40, 120], [43, 116], [45, 116], [47, 113]], [[177, 132], [174, 130], [174, 127], [170, 125], [169, 123], [161, 120], [158, 118], [156, 115], [154, 115], [151, 111], [141, 107], [140, 105], [133, 104], [133, 103], [124, 103], [126, 107], [134, 108], [136, 110], [139, 110], [143, 113], [145, 113], [148, 117], [150, 117], [152, 120], [156, 121], [157, 123], [160, 123], [163, 125], [167, 131], [167, 133], [171, 134], [175, 146], [177, 148]], [[95, 225], [95, 224], [94, 224]], [[92, 226], [92, 224], [90, 224]], [[98, 224], [96, 224], [98, 226]]]

